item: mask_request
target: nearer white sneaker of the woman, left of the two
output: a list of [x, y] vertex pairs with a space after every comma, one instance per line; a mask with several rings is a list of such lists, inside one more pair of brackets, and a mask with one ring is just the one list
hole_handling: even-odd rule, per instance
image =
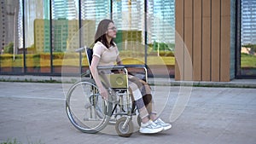
[[140, 132], [143, 134], [154, 134], [162, 131], [164, 128], [160, 125], [154, 124], [152, 120], [149, 120], [146, 124], [141, 124]]

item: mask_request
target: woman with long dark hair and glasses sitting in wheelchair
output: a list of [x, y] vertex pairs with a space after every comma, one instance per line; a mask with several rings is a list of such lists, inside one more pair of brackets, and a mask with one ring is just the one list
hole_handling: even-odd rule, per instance
[[[97, 66], [113, 66], [116, 63], [121, 65], [119, 50], [113, 38], [116, 37], [117, 28], [113, 20], [102, 20], [96, 30], [95, 45], [93, 47], [93, 58], [90, 65], [90, 71], [96, 81], [100, 94], [104, 99], [108, 98], [108, 90], [103, 86], [100, 79], [101, 73], [97, 71]], [[105, 72], [106, 73], [106, 72]], [[133, 98], [142, 118], [140, 132], [144, 134], [158, 133], [161, 130], [168, 130], [171, 124], [166, 124], [160, 118], [154, 109], [154, 101], [151, 95], [149, 85], [143, 80], [129, 75], [129, 88], [132, 91]]]

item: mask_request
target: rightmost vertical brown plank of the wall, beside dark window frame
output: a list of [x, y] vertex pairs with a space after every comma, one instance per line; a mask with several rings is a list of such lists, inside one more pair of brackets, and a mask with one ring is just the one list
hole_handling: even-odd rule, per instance
[[220, 81], [230, 81], [230, 0], [221, 0]]

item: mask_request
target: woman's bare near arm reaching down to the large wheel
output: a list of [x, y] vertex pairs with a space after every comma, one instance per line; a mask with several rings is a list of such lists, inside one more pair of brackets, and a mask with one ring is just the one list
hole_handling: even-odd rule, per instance
[[102, 95], [102, 97], [107, 100], [108, 99], [108, 91], [107, 89], [104, 88], [102, 81], [99, 77], [99, 73], [97, 71], [97, 66], [98, 63], [100, 61], [100, 58], [97, 57], [96, 55], [93, 55], [92, 60], [91, 60], [91, 64], [90, 64], [90, 72], [92, 74], [92, 77], [94, 78], [97, 87], [100, 90], [100, 94]]

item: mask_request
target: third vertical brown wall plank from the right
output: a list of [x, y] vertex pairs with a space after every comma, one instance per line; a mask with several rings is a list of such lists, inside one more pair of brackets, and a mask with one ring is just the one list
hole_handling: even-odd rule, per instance
[[211, 80], [211, 0], [202, 0], [202, 81]]

